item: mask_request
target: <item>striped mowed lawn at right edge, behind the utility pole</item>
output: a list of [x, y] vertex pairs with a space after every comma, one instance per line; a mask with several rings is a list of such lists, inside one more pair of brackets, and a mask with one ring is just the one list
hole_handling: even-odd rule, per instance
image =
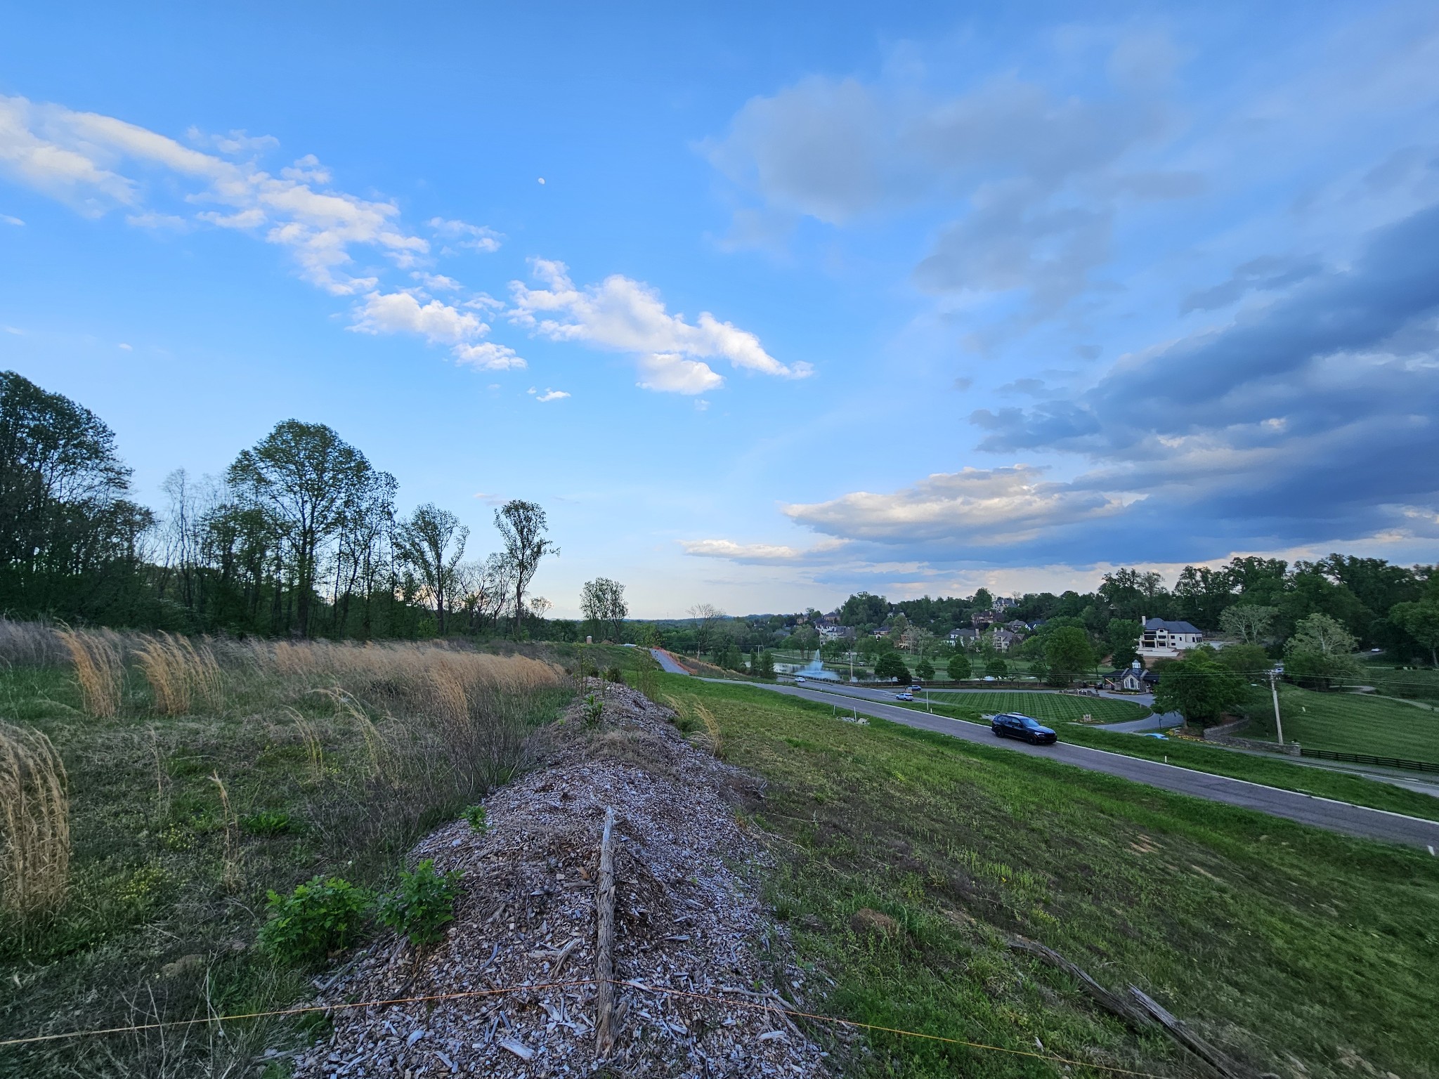
[[[1285, 686], [1279, 695], [1285, 741], [1314, 750], [1366, 752], [1439, 764], [1439, 712], [1360, 693], [1317, 693]], [[1274, 739], [1274, 715], [1243, 732]]]

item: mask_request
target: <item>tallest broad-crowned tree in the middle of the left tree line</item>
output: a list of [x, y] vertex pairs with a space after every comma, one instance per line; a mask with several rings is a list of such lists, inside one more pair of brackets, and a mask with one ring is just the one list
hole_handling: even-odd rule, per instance
[[268, 506], [285, 537], [295, 629], [309, 636], [321, 550], [368, 483], [370, 462], [322, 423], [283, 420], [242, 450], [226, 479]]

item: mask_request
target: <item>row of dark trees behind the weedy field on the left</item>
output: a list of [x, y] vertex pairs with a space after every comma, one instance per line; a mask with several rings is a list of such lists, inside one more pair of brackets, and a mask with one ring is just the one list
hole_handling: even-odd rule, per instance
[[223, 476], [184, 469], [157, 514], [92, 411], [0, 373], [0, 607], [105, 624], [266, 636], [524, 634], [550, 609], [530, 586], [558, 554], [544, 509], [495, 509], [499, 550], [319, 423], [283, 420]]

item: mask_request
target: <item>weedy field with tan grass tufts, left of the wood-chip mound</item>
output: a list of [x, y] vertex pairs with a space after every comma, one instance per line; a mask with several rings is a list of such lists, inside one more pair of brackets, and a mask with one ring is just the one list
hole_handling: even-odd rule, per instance
[[[404, 852], [525, 768], [573, 698], [577, 649], [502, 647], [0, 620], [0, 1029], [302, 998], [314, 962], [378, 932], [370, 899], [403, 891]], [[635, 663], [586, 652], [591, 669]], [[440, 883], [413, 883], [419, 937], [443, 928]], [[255, 1020], [16, 1046], [0, 1076], [248, 1075], [305, 1037]]]

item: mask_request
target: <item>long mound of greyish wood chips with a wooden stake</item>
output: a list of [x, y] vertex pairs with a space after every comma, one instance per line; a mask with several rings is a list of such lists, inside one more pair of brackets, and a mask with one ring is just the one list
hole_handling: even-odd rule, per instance
[[[594, 893], [606, 807], [617, 837], [614, 977], [635, 983], [616, 987], [607, 1072], [830, 1075], [799, 1027], [755, 1007], [784, 1004], [783, 987], [803, 1009], [807, 984], [783, 961], [781, 929], [744, 876], [764, 862], [735, 813], [760, 794], [755, 780], [688, 742], [668, 709], [622, 686], [607, 693], [599, 725], [586, 727], [576, 705], [547, 767], [486, 800], [485, 834], [458, 821], [412, 852], [465, 873], [446, 939], [416, 954], [381, 937], [319, 1003], [476, 996], [337, 1010], [334, 1036], [296, 1059], [296, 1076], [599, 1070]], [[535, 988], [494, 993], [515, 985]]]

